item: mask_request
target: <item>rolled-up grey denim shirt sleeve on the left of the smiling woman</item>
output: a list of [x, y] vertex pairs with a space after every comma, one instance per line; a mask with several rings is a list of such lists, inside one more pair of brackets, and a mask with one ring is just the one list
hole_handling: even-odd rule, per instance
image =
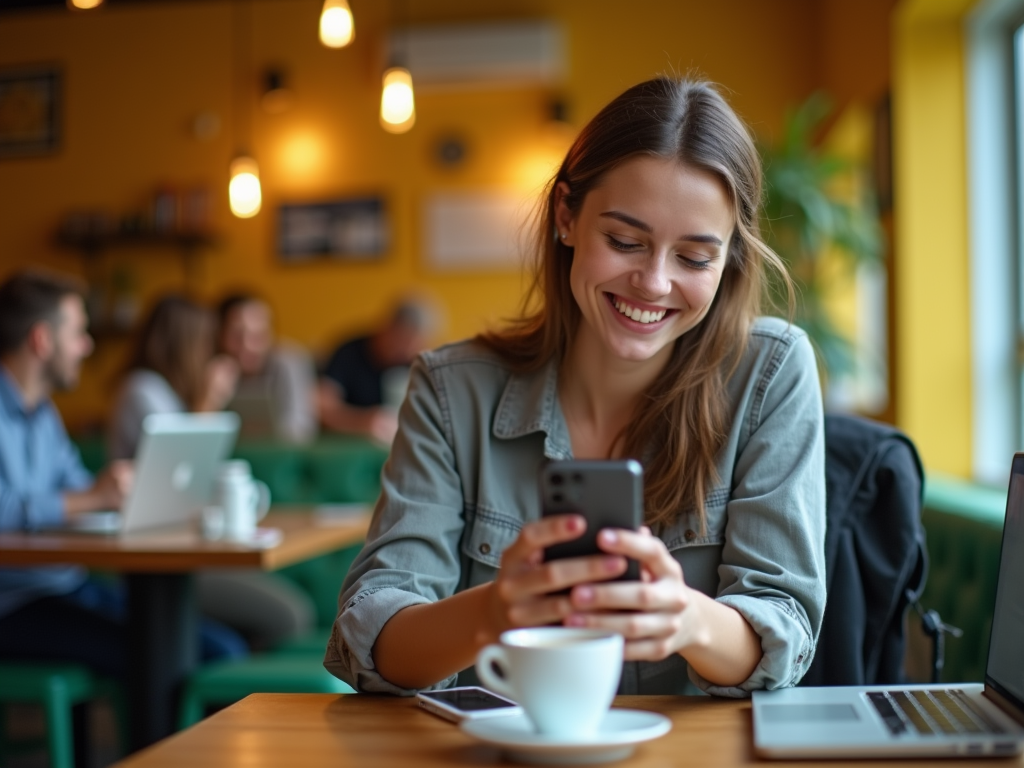
[[359, 691], [415, 692], [381, 677], [374, 643], [399, 610], [441, 600], [458, 586], [463, 495], [447, 413], [441, 375], [417, 360], [367, 543], [342, 586], [324, 659], [329, 672]]

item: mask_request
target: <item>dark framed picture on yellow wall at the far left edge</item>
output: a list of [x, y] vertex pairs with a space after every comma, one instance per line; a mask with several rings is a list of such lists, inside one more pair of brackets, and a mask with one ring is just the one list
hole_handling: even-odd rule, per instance
[[48, 155], [60, 143], [60, 71], [0, 70], [0, 158]]

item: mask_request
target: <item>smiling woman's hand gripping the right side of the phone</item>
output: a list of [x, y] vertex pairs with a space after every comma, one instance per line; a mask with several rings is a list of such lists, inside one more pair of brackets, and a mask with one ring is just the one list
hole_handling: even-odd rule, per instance
[[621, 633], [627, 660], [659, 660], [707, 639], [682, 567], [648, 528], [606, 528], [597, 541], [609, 555], [638, 560], [641, 581], [574, 587], [566, 626]]

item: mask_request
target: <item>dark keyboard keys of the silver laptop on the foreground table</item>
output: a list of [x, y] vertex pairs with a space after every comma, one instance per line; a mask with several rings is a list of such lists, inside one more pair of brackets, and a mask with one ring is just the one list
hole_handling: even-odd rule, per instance
[[867, 694], [867, 700], [893, 735], [1004, 732], [958, 688], [872, 692]]

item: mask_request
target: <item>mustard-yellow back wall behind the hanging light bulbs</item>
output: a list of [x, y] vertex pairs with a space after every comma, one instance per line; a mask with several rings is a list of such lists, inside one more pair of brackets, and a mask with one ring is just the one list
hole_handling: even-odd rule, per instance
[[[660, 72], [696, 71], [723, 83], [737, 111], [766, 136], [785, 109], [815, 87], [843, 99], [874, 98], [888, 82], [886, 17], [892, 0], [426, 0], [404, 4], [410, 23], [548, 17], [568, 43], [566, 98], [579, 127], [623, 88]], [[356, 40], [324, 48], [315, 38], [319, 0], [254, 0], [252, 68], [283, 67], [295, 99], [268, 115], [249, 90], [252, 146], [261, 163], [263, 211], [231, 217], [226, 168], [245, 125], [232, 116], [232, 11], [221, 0], [113, 5], [95, 12], [5, 14], [0, 67], [55, 61], [66, 75], [66, 138], [57, 154], [0, 161], [0, 276], [27, 261], [81, 270], [78, 255], [52, 245], [73, 209], [113, 214], [137, 209], [160, 184], [205, 184], [214, 193], [218, 244], [200, 262], [198, 293], [213, 298], [244, 285], [267, 294], [283, 335], [323, 351], [371, 325], [396, 294], [420, 287], [446, 307], [438, 341], [473, 334], [513, 313], [518, 273], [437, 274], [423, 265], [420, 204], [438, 189], [512, 186], [535, 190], [564, 138], [546, 130], [552, 93], [538, 88], [418, 96], [418, 123], [393, 136], [377, 122], [380, 46], [398, 6], [351, 0]], [[866, 20], [865, 20], [866, 19]], [[851, 30], [855, 34], [851, 37]], [[859, 45], [858, 43], [859, 39]], [[197, 114], [213, 111], [220, 134], [200, 140]], [[445, 133], [465, 137], [463, 167], [431, 159]], [[273, 213], [284, 202], [380, 194], [393, 243], [379, 262], [284, 265], [274, 254]], [[179, 288], [174, 254], [119, 251], [104, 268], [129, 265], [150, 300]], [[78, 427], [100, 419], [124, 341], [100, 345], [82, 386], [58, 400]]]

